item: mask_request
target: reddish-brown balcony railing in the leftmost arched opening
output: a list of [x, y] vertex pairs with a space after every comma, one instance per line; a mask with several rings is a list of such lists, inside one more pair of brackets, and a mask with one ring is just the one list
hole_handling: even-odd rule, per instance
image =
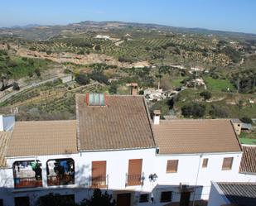
[[36, 188], [42, 187], [41, 178], [14, 178], [14, 188]]

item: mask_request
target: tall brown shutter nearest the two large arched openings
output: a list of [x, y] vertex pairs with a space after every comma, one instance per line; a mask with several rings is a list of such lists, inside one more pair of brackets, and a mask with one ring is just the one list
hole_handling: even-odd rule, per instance
[[92, 162], [92, 186], [106, 185], [106, 165], [107, 161]]

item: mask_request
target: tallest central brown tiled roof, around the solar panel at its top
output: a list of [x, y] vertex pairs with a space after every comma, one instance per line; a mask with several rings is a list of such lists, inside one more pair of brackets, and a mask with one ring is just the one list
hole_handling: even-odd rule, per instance
[[106, 98], [107, 106], [88, 106], [85, 94], [76, 95], [79, 150], [154, 147], [144, 98], [130, 95]]

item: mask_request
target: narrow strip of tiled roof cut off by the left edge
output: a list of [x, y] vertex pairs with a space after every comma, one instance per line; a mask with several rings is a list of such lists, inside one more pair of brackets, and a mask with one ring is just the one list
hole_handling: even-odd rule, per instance
[[7, 166], [5, 156], [11, 135], [12, 132], [0, 132], [0, 167]]

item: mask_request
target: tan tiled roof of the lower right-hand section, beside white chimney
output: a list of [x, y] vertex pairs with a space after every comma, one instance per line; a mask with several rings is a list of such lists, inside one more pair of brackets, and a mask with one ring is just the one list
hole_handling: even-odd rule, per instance
[[153, 125], [159, 154], [241, 151], [229, 120], [175, 119]]

